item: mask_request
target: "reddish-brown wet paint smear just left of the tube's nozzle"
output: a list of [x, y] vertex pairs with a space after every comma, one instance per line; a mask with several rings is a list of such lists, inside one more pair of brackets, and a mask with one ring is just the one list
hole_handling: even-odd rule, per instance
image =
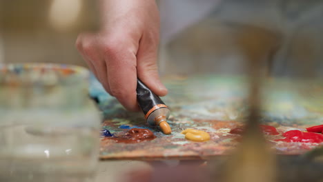
[[124, 136], [109, 137], [106, 139], [115, 140], [117, 143], [139, 143], [141, 141], [150, 141], [156, 136], [147, 129], [133, 128], [126, 132]]

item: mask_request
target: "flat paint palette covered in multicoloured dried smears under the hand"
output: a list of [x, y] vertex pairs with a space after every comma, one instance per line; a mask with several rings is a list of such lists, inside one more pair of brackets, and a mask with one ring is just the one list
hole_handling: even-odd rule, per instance
[[[156, 139], [141, 143], [116, 143], [101, 137], [101, 159], [208, 159], [228, 154], [239, 143], [241, 127], [248, 115], [247, 80], [244, 77], [201, 75], [168, 77], [164, 83], [169, 90], [164, 102], [172, 111], [168, 123], [172, 134], [150, 128], [142, 113], [127, 112], [92, 78], [90, 95], [98, 102], [104, 115], [102, 130], [112, 135], [125, 134], [131, 128], [150, 129]], [[303, 154], [323, 143], [276, 141], [284, 139], [288, 130], [302, 130], [323, 123], [323, 82], [264, 80], [262, 123], [272, 125], [279, 134], [265, 134], [277, 154]], [[319, 86], [321, 85], [321, 86]], [[188, 141], [183, 130], [203, 130], [211, 139], [205, 142]]]

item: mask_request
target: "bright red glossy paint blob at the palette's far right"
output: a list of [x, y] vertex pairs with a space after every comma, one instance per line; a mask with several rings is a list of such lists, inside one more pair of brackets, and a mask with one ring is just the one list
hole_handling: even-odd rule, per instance
[[285, 139], [278, 139], [275, 141], [285, 142], [304, 142], [304, 143], [322, 143], [323, 135], [314, 132], [301, 132], [300, 130], [290, 130], [284, 132]]

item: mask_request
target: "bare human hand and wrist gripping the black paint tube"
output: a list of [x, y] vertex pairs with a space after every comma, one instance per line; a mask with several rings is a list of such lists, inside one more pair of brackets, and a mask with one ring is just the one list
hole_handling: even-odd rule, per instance
[[159, 12], [155, 0], [101, 0], [101, 30], [81, 33], [77, 49], [106, 91], [128, 110], [139, 110], [137, 78], [159, 96]]

